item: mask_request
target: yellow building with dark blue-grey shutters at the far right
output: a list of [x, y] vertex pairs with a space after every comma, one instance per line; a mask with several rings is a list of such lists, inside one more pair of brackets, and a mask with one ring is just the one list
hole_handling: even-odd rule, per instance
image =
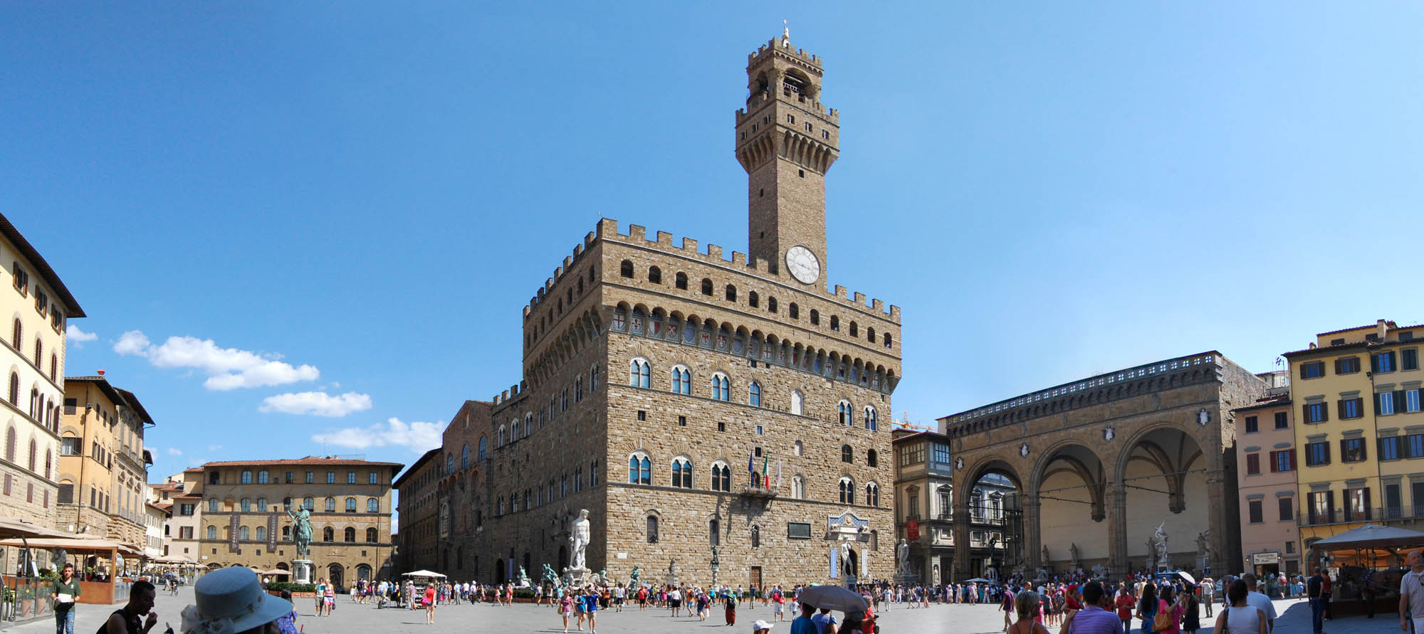
[[1410, 476], [1424, 459], [1421, 341], [1424, 326], [1380, 320], [1320, 333], [1309, 348], [1284, 354], [1304, 550], [1367, 522], [1424, 513], [1424, 476]]

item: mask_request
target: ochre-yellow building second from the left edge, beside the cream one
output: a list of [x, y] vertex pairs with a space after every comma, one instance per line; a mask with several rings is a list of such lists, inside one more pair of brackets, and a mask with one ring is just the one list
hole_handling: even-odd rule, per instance
[[103, 375], [68, 377], [60, 426], [60, 529], [141, 549], [148, 540], [144, 449], [152, 418], [132, 392]]

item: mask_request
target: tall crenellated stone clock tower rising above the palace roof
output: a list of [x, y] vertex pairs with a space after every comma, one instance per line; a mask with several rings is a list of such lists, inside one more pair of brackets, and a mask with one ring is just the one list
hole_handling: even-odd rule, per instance
[[749, 254], [824, 289], [826, 171], [839, 156], [840, 117], [819, 101], [820, 58], [783, 33], [748, 55], [746, 78], [736, 159], [748, 173]]

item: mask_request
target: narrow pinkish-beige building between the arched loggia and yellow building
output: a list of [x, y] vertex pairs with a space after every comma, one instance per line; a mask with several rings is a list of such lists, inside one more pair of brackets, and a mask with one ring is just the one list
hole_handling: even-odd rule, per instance
[[1303, 570], [1296, 517], [1296, 431], [1286, 372], [1260, 375], [1270, 391], [1232, 409], [1236, 417], [1236, 480], [1242, 509], [1242, 570], [1256, 574]]

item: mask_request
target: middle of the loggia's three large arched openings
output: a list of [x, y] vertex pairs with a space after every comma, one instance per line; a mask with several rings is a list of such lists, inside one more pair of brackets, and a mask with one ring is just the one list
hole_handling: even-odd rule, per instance
[[1108, 469], [1088, 446], [1065, 444], [1038, 461], [1032, 490], [1038, 500], [1038, 566], [1075, 573], [1109, 563]]

